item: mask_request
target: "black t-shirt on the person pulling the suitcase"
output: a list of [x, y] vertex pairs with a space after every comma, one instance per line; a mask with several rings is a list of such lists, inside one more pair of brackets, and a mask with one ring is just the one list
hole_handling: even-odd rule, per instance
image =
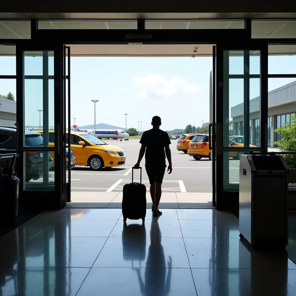
[[144, 131], [141, 144], [146, 145], [145, 167], [165, 168], [165, 146], [170, 145], [168, 133], [159, 128]]

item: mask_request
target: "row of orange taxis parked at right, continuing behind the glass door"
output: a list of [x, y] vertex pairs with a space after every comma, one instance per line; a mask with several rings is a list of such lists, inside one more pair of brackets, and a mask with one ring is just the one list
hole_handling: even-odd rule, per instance
[[[243, 136], [230, 136], [229, 147], [244, 147]], [[250, 144], [250, 147], [256, 147]], [[203, 157], [211, 160], [211, 151], [209, 147], [209, 134], [184, 134], [178, 139], [177, 146], [178, 151], [188, 153], [195, 160], [200, 160]], [[230, 151], [229, 157], [234, 159], [240, 159], [242, 151]]]

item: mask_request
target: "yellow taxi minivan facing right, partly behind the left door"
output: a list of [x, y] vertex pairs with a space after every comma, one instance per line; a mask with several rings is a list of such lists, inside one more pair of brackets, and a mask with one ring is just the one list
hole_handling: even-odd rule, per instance
[[[43, 133], [42, 130], [34, 130]], [[66, 132], [68, 143], [68, 131]], [[71, 150], [76, 158], [76, 165], [89, 166], [92, 170], [112, 168], [124, 165], [126, 156], [122, 149], [109, 145], [89, 133], [70, 131]], [[49, 130], [49, 146], [54, 146], [54, 130]], [[54, 155], [52, 156], [54, 159]]]

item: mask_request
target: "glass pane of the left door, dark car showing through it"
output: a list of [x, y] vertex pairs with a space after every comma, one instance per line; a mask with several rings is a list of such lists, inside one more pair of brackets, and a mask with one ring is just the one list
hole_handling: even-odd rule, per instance
[[53, 55], [53, 51], [23, 52], [25, 190], [54, 190], [54, 142], [49, 141], [54, 129], [54, 75], [49, 75]]

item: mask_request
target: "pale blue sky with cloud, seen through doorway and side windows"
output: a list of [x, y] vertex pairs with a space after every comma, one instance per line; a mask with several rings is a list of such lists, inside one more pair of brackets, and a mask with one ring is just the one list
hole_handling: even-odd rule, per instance
[[[230, 74], [243, 73], [242, 57], [230, 58]], [[269, 57], [270, 74], [296, 72], [296, 56]], [[209, 76], [211, 57], [72, 57], [71, 118], [84, 126], [107, 123], [138, 128], [150, 127], [151, 118], [159, 115], [165, 130], [200, 126], [209, 120]], [[53, 74], [53, 59], [49, 62]], [[259, 74], [259, 57], [250, 59], [250, 73]], [[26, 57], [25, 74], [41, 75], [42, 59]], [[0, 75], [15, 75], [15, 57], [0, 57]], [[268, 90], [283, 86], [296, 78], [270, 78]], [[15, 80], [1, 79], [0, 93], [15, 94]], [[250, 83], [250, 99], [259, 95], [259, 78]], [[230, 81], [230, 106], [243, 101], [243, 80]], [[229, 107], [230, 107], [229, 106]], [[39, 125], [38, 109], [42, 105], [42, 81], [25, 82], [25, 124]], [[53, 125], [53, 81], [49, 82], [49, 124]], [[41, 116], [42, 121], [42, 116]], [[73, 120], [74, 124], [74, 120]]]

